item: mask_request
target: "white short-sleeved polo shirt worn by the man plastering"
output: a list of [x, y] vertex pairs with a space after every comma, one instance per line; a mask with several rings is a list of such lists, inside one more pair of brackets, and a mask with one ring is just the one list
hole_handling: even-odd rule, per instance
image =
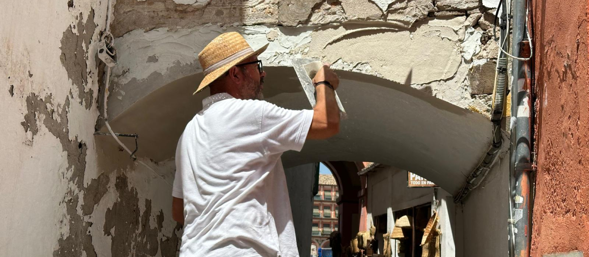
[[203, 100], [176, 148], [180, 257], [298, 257], [280, 156], [300, 151], [313, 110], [221, 93]]

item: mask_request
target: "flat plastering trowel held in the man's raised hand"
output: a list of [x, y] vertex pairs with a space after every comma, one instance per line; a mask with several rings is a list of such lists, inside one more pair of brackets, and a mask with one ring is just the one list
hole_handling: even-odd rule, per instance
[[[317, 72], [323, 67], [323, 63], [319, 60], [309, 58], [296, 58], [292, 60], [292, 64], [296, 76], [299, 77], [300, 84], [303, 86], [303, 91], [305, 91], [307, 99], [309, 99], [311, 107], [315, 107], [315, 86], [313, 86], [312, 78], [315, 77]], [[342, 103], [337, 96], [337, 92], [335, 93], [335, 100], [339, 107], [340, 119], [346, 119], [346, 110], [343, 109]]]

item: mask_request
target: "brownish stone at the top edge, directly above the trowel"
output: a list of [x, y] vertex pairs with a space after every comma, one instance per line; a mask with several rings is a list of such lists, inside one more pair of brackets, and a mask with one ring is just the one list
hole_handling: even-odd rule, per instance
[[278, 21], [283, 26], [296, 26], [306, 22], [313, 6], [320, 0], [286, 0], [278, 4]]

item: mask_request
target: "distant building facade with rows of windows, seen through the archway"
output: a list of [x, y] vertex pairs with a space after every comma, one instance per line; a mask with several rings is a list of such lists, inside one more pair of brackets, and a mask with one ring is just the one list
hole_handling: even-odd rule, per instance
[[319, 174], [319, 191], [313, 199], [311, 249], [329, 248], [329, 235], [338, 230], [337, 197], [339, 189], [333, 175]]

